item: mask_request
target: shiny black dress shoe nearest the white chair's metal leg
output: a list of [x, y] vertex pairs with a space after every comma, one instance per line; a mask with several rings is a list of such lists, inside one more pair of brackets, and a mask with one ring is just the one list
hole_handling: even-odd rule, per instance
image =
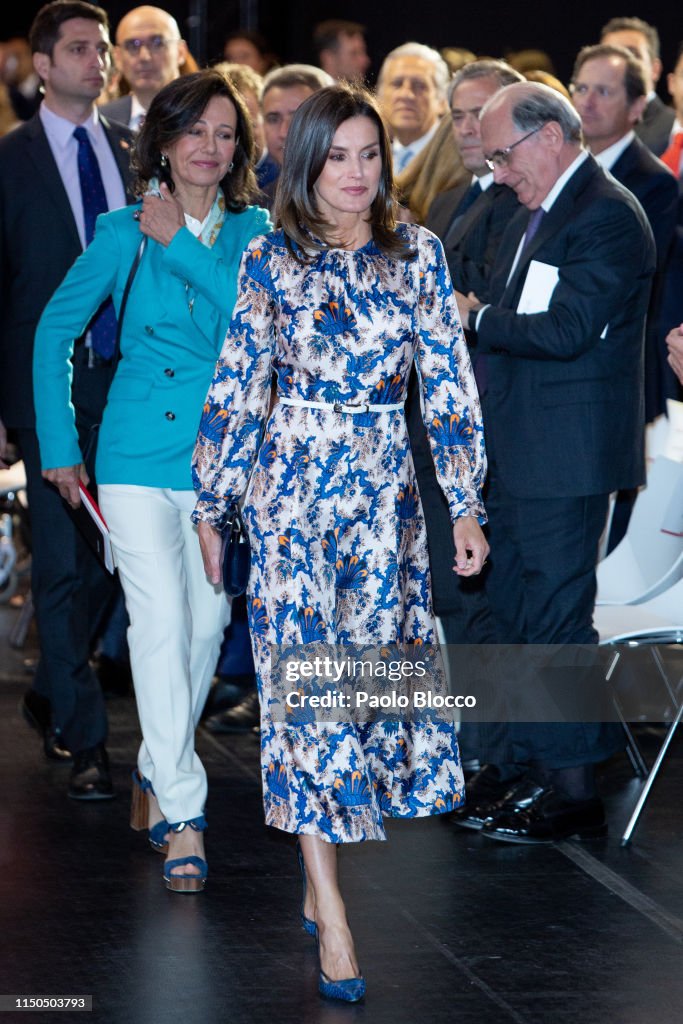
[[607, 835], [605, 808], [597, 797], [568, 801], [546, 788], [524, 809], [502, 808], [484, 821], [481, 835], [504, 843], [555, 843], [562, 839], [602, 839]]

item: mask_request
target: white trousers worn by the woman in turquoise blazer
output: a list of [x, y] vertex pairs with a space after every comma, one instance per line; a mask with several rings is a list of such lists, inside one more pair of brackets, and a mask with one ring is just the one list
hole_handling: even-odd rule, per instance
[[195, 730], [218, 660], [230, 605], [206, 578], [193, 490], [102, 484], [130, 617], [128, 645], [142, 744], [137, 766], [167, 821], [204, 813], [207, 780]]

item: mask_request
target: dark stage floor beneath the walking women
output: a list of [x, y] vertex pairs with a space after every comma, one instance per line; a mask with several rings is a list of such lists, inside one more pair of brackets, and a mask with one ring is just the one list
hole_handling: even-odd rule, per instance
[[524, 848], [447, 820], [395, 822], [342, 851], [365, 1005], [323, 1002], [298, 927], [291, 841], [262, 823], [256, 739], [202, 732], [210, 776], [207, 890], [168, 893], [162, 858], [128, 827], [133, 702], [110, 702], [119, 798], [66, 797], [17, 713], [30, 681], [0, 608], [0, 994], [91, 994], [106, 1024], [678, 1024], [683, 1019], [683, 748], [675, 743], [631, 848], [640, 782], [601, 780], [610, 839]]

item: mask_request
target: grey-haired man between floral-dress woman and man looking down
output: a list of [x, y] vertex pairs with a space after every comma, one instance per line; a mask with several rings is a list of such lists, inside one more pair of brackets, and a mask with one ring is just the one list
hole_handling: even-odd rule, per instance
[[[503, 231], [519, 209], [519, 203], [511, 188], [495, 183], [486, 167], [479, 114], [495, 92], [522, 81], [522, 76], [503, 60], [476, 60], [454, 76], [449, 90], [456, 144], [471, 178], [434, 200], [426, 226], [443, 243], [454, 286], [466, 294], [474, 292], [483, 299], [488, 297], [488, 278]], [[482, 391], [482, 364], [477, 367], [475, 353], [473, 358]], [[455, 557], [451, 516], [436, 480], [415, 374], [411, 376], [409, 387], [407, 420], [427, 523], [434, 610], [441, 621], [445, 642], [453, 645], [494, 643], [495, 625], [482, 578], [465, 580], [451, 569]], [[485, 766], [490, 738], [489, 727], [463, 724], [460, 743], [465, 763], [479, 762]], [[468, 801], [481, 796], [492, 775], [497, 781], [507, 781], [508, 776], [502, 777], [502, 773], [501, 766], [482, 767], [468, 781]]]

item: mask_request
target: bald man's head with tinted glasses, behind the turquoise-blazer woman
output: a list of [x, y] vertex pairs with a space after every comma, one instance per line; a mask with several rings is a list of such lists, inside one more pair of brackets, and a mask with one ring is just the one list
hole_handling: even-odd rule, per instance
[[178, 78], [186, 56], [177, 22], [161, 7], [134, 7], [121, 18], [114, 58], [144, 110]]

